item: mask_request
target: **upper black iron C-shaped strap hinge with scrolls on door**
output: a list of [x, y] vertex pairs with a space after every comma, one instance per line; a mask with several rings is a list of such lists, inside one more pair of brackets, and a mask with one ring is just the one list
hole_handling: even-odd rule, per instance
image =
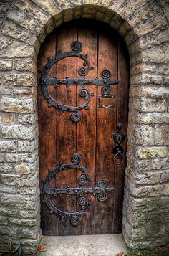
[[[92, 95], [92, 93], [90, 93], [90, 91], [85, 86], [95, 85], [97, 87], [101, 85], [102, 94], [106, 95], [110, 93], [110, 85], [117, 85], [119, 81], [110, 80], [111, 74], [109, 70], [102, 70], [102, 79], [98, 79], [98, 77], [95, 77], [95, 80], [85, 79], [85, 76], [90, 72], [90, 70], [93, 70], [94, 67], [90, 65], [90, 62], [87, 59], [87, 55], [80, 53], [82, 51], [81, 42], [72, 42], [71, 48], [72, 51], [70, 52], [59, 51], [56, 56], [52, 58], [47, 57], [47, 64], [42, 70], [39, 70], [39, 72], [42, 73], [42, 76], [39, 78], [39, 85], [41, 85], [42, 93], [44, 95], [44, 98], [49, 103], [49, 107], [54, 106], [55, 108], [60, 110], [60, 113], [63, 113], [64, 111], [75, 112], [75, 115], [71, 116], [71, 120], [73, 122], [78, 122], [81, 116], [77, 111], [81, 110], [82, 108], [88, 109], [87, 105], [90, 102], [90, 96]], [[51, 67], [57, 62], [59, 62], [59, 60], [62, 60], [67, 57], [78, 57], [84, 61], [83, 67], [79, 67], [78, 69], [78, 73], [82, 78], [69, 78], [67, 76], [65, 77], [65, 79], [58, 79], [57, 76], [48, 77], [49, 70], [51, 69]], [[77, 106], [64, 105], [62, 103], [59, 103], [57, 100], [54, 100], [54, 98], [52, 98], [52, 95], [49, 93], [49, 85], [54, 85], [54, 87], [58, 87], [60, 85], [66, 85], [66, 87], [69, 87], [70, 85], [82, 85], [82, 89], [79, 91], [79, 95], [80, 97], [84, 98], [84, 103]]]

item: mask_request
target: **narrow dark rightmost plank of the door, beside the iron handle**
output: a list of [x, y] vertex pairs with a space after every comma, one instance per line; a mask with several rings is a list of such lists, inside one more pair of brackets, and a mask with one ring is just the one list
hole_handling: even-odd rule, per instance
[[[128, 113], [128, 90], [129, 90], [129, 55], [127, 47], [122, 38], [118, 40], [118, 80], [120, 83], [117, 87], [117, 124], [122, 123], [122, 132], [127, 134], [127, 113]], [[124, 156], [127, 151], [127, 138], [122, 143], [124, 148]], [[113, 233], [122, 232], [122, 202], [124, 194], [125, 167], [127, 166], [126, 158], [122, 165], [115, 166], [115, 210]]]

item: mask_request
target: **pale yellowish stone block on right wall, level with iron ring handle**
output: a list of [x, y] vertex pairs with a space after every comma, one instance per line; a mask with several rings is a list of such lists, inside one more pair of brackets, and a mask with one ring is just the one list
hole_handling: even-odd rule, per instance
[[166, 147], [138, 147], [137, 148], [137, 156], [140, 159], [145, 158], [158, 158], [158, 157], [166, 157], [167, 156], [167, 148]]

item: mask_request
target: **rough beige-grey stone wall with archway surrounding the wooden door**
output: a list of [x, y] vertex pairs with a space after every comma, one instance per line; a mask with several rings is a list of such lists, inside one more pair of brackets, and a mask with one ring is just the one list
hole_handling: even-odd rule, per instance
[[130, 52], [122, 234], [130, 247], [168, 242], [168, 11], [167, 0], [1, 0], [1, 252], [9, 241], [37, 251], [37, 54], [54, 27], [80, 17], [110, 24]]

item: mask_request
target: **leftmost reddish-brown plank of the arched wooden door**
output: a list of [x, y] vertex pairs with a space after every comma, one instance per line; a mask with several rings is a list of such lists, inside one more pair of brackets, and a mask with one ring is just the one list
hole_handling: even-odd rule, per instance
[[[47, 64], [47, 57], [53, 57], [56, 53], [56, 40], [54, 34], [50, 35], [42, 45], [39, 52], [37, 67], [38, 70], [44, 68]], [[56, 67], [49, 70], [49, 76], [56, 75]], [[40, 74], [38, 73], [40, 77]], [[50, 87], [52, 97], [55, 94], [53, 87]], [[48, 170], [54, 167], [56, 159], [55, 141], [56, 141], [56, 120], [55, 108], [48, 108], [48, 103], [41, 95], [41, 88], [38, 86], [38, 123], [39, 123], [39, 169], [40, 181], [46, 179]], [[52, 180], [51, 186], [55, 184]], [[42, 183], [40, 184], [42, 187]], [[54, 203], [57, 203], [54, 200]], [[45, 235], [57, 234], [57, 218], [54, 214], [49, 214], [46, 204], [41, 205], [42, 230]]]

